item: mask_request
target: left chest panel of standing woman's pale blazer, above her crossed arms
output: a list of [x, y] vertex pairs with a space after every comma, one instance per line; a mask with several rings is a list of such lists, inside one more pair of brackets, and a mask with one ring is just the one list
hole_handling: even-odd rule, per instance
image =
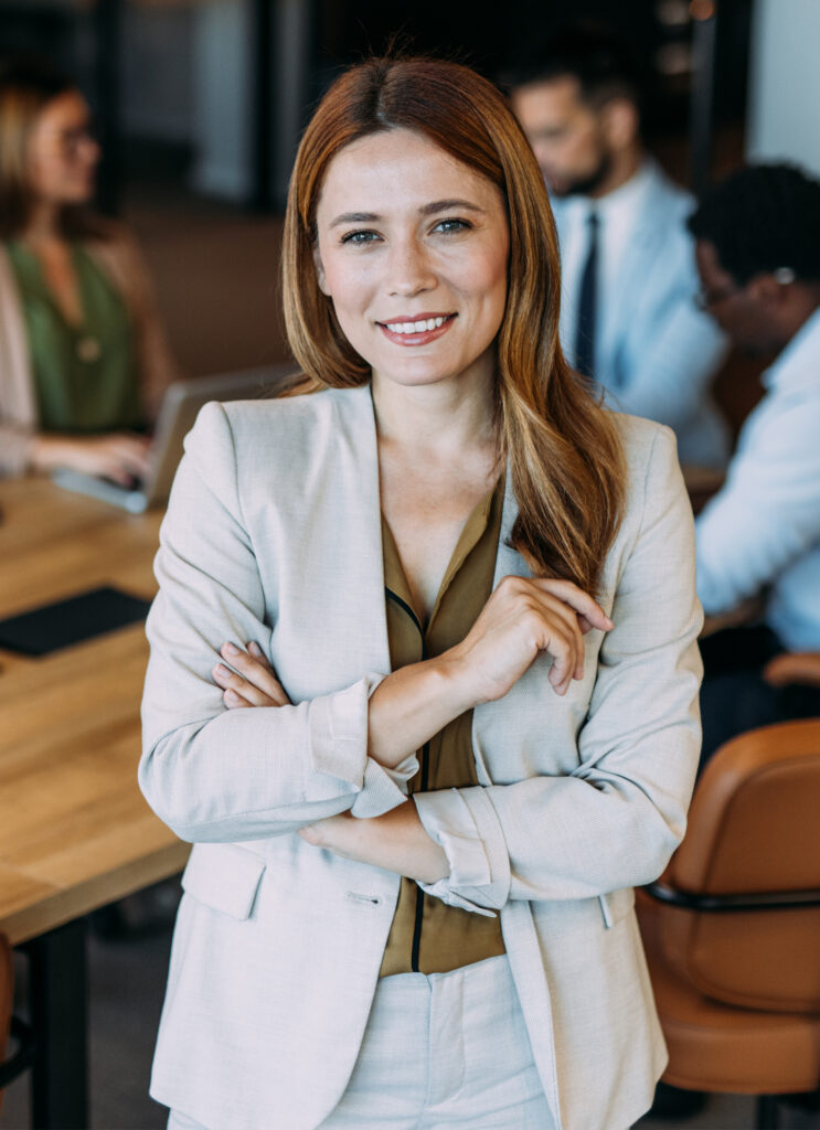
[[[316, 393], [316, 412], [287, 466], [272, 472], [278, 527], [270, 608], [273, 666], [295, 701], [390, 672], [378, 459], [368, 388]], [[277, 498], [279, 473], [294, 489]], [[283, 562], [283, 565], [281, 564]]]

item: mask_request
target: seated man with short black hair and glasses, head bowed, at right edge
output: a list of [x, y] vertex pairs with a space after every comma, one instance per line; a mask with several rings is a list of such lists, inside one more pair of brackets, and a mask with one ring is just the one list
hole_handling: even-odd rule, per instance
[[743, 730], [820, 716], [820, 690], [773, 687], [777, 652], [820, 651], [820, 183], [743, 168], [691, 217], [701, 305], [740, 347], [776, 350], [724, 487], [696, 523], [708, 616], [762, 594], [758, 624], [703, 642], [704, 758]]

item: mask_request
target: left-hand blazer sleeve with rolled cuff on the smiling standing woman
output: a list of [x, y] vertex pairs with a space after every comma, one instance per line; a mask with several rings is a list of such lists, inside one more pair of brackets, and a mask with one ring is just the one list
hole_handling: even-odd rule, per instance
[[259, 840], [351, 810], [402, 803], [415, 757], [367, 756], [368, 698], [383, 675], [293, 706], [227, 711], [211, 679], [225, 641], [268, 650], [264, 594], [243, 523], [230, 427], [207, 405], [186, 440], [160, 530], [159, 593], [142, 701], [142, 791], [181, 838]]

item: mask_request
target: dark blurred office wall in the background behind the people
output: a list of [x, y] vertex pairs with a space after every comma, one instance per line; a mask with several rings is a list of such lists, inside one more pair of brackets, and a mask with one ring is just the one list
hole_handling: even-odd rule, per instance
[[633, 42], [649, 147], [680, 182], [703, 186], [747, 154], [820, 171], [818, 0], [0, 0], [0, 53], [78, 77], [104, 148], [101, 207], [137, 229], [172, 344], [199, 374], [287, 357], [287, 182], [341, 67], [396, 41], [495, 76], [582, 17]]

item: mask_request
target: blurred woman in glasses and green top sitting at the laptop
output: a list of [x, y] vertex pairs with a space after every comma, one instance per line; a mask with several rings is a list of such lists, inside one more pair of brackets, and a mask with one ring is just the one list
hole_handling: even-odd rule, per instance
[[176, 374], [132, 240], [86, 211], [98, 160], [71, 81], [0, 68], [0, 475], [148, 470]]

